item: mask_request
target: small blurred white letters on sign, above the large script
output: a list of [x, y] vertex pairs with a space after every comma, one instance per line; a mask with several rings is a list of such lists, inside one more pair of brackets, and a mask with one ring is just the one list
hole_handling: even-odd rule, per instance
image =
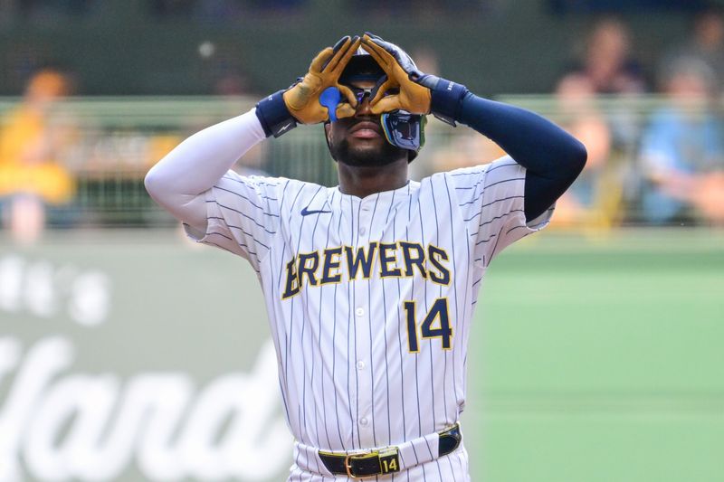
[[110, 279], [97, 270], [7, 255], [0, 258], [0, 311], [40, 318], [65, 312], [80, 325], [100, 325], [110, 313]]

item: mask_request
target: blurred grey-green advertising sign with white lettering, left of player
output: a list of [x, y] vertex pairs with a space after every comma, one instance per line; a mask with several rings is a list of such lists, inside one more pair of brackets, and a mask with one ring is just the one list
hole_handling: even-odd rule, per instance
[[280, 480], [261, 290], [176, 232], [0, 238], [0, 481]]

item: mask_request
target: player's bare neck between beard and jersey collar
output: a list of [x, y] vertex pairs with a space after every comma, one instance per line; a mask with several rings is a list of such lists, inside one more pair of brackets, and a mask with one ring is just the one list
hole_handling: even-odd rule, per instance
[[338, 163], [339, 191], [357, 197], [393, 191], [407, 184], [407, 159], [388, 165], [360, 167]]

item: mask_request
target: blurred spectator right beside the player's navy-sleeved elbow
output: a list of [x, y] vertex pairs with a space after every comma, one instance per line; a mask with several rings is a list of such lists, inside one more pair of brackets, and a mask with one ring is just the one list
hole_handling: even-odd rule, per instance
[[583, 75], [570, 75], [556, 91], [557, 122], [588, 151], [583, 173], [557, 202], [558, 225], [608, 228], [622, 217], [624, 172], [612, 157], [612, 133], [596, 105], [595, 88]]

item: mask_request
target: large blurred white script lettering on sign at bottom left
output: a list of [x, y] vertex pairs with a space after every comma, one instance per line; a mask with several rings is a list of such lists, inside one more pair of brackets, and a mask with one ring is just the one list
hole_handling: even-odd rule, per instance
[[[70, 373], [74, 347], [52, 336], [23, 357], [0, 337], [0, 481], [110, 480], [135, 461], [150, 480], [274, 477], [289, 465], [276, 354], [262, 346], [251, 373], [197, 391], [187, 373]], [[8, 379], [14, 371], [13, 382]], [[0, 400], [1, 401], [1, 400]]]

